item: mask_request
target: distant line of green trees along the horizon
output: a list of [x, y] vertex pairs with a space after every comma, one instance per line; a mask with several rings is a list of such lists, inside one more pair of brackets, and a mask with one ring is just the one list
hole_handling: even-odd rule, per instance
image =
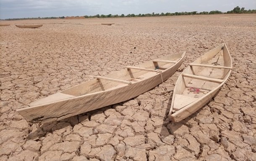
[[[174, 15], [212, 15], [212, 14], [231, 14], [231, 13], [256, 13], [256, 10], [245, 10], [245, 8], [240, 8], [239, 6], [236, 6], [233, 10], [227, 11], [227, 12], [221, 12], [219, 10], [212, 10], [210, 12], [175, 12], [175, 13], [146, 13], [146, 14], [128, 14], [128, 15], [84, 15], [85, 18], [117, 18], [117, 17], [157, 17], [157, 16], [174, 16]], [[76, 16], [79, 17], [79, 16]], [[5, 20], [29, 20], [29, 19], [57, 19], [57, 18], [65, 18], [64, 16], [62, 17], [44, 17], [44, 18], [8, 18]]]

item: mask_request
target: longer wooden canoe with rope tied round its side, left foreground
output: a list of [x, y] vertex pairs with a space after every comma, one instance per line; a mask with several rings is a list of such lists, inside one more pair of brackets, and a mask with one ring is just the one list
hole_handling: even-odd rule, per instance
[[[27, 121], [50, 122], [123, 102], [156, 87], [176, 72], [185, 52], [95, 77], [17, 109]], [[160, 72], [161, 73], [160, 73]]]

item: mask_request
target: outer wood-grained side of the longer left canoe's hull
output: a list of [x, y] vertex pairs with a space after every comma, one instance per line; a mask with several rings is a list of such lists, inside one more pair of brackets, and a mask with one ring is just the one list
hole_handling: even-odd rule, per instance
[[[177, 63], [173, 64], [170, 68], [162, 71], [161, 74], [163, 81], [167, 80], [170, 76], [172, 76], [172, 74], [176, 72], [176, 70], [183, 62], [184, 58], [185, 52], [181, 56], [179, 56], [179, 61]], [[146, 74], [150, 74], [152, 76], [146, 79], [140, 79], [136, 82], [132, 82], [132, 84], [120, 84], [120, 86], [114, 87], [109, 90], [93, 92], [86, 95], [71, 97], [46, 104], [38, 103], [39, 105], [27, 105], [17, 109], [17, 111], [26, 120], [32, 122], [49, 122], [54, 120], [62, 120], [64, 118], [78, 115], [80, 113], [88, 112], [101, 107], [129, 100], [162, 83], [160, 73], [146, 72]], [[73, 87], [71, 89], [77, 90], [76, 87]], [[69, 89], [65, 91], [68, 92], [66, 92], [65, 94], [69, 94], [72, 92], [69, 91]], [[74, 92], [73, 94], [77, 95], [79, 93]]]

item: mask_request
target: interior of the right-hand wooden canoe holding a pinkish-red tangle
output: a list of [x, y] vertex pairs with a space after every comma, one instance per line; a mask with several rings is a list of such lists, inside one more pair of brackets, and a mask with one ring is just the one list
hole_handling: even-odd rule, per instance
[[225, 44], [189, 64], [177, 80], [173, 110], [180, 110], [218, 87], [228, 77], [230, 69], [232, 62]]

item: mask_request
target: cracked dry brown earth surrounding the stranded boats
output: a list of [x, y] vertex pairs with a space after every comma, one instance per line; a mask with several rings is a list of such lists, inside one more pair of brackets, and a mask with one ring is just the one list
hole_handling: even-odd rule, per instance
[[[255, 14], [8, 23], [0, 27], [0, 161], [256, 160]], [[43, 26], [14, 26], [25, 23]], [[172, 123], [179, 74], [222, 42], [233, 61], [229, 79], [207, 105]], [[170, 79], [132, 100], [44, 124], [16, 112], [94, 75], [183, 51]]]

